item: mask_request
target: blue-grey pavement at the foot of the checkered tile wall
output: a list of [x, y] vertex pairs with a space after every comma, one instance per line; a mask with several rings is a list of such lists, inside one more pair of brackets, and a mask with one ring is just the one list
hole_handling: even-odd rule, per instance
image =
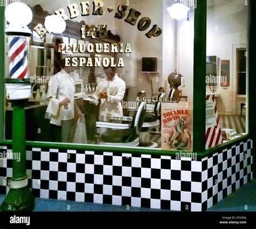
[[[0, 204], [4, 200], [3, 195], [0, 195]], [[158, 209], [145, 209], [139, 207], [115, 206], [107, 204], [80, 203], [65, 200], [53, 199], [36, 199], [34, 211], [165, 211]], [[253, 180], [242, 186], [239, 190], [233, 192], [215, 204], [208, 211], [256, 211], [256, 180]]]

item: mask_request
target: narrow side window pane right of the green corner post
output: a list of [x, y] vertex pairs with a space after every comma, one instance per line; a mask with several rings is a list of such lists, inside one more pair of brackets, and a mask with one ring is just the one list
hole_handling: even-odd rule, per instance
[[206, 149], [248, 133], [248, 1], [207, 1]]

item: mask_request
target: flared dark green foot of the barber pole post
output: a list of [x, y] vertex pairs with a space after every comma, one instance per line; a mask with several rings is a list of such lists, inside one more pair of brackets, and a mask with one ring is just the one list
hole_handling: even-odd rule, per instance
[[35, 209], [35, 197], [32, 195], [29, 186], [21, 189], [10, 189], [2, 203], [2, 211], [33, 211]]

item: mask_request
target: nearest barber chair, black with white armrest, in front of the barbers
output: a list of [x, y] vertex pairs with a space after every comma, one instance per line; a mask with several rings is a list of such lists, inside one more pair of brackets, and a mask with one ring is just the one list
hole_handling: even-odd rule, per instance
[[106, 128], [99, 137], [100, 145], [116, 147], [136, 147], [139, 144], [139, 133], [146, 114], [146, 102], [140, 102], [133, 117], [111, 117], [112, 121], [127, 123], [96, 122], [96, 127]]

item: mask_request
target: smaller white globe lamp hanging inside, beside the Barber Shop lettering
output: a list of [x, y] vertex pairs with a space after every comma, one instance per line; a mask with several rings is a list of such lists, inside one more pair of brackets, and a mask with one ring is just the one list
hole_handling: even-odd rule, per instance
[[51, 15], [45, 18], [44, 26], [50, 33], [61, 34], [66, 29], [66, 22], [62, 16]]

